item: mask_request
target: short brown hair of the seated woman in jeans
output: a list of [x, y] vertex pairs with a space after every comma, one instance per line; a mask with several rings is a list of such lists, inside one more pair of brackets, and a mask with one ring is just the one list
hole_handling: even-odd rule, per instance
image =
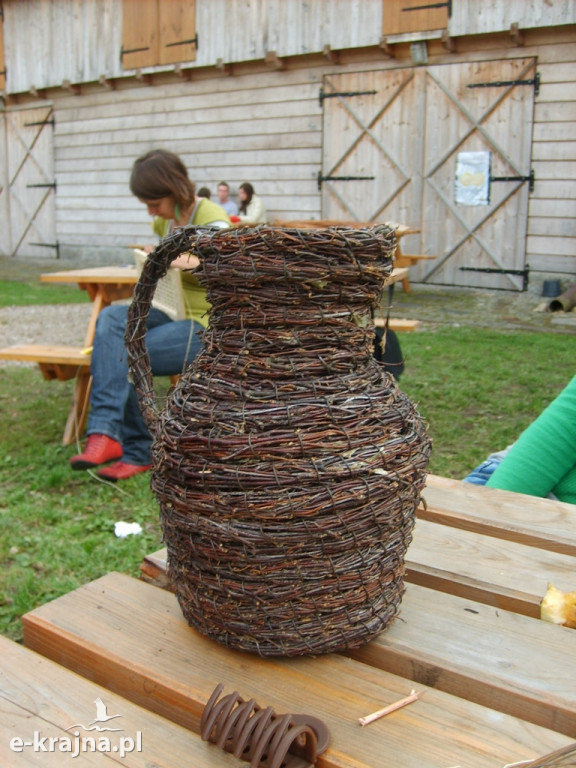
[[184, 210], [194, 202], [196, 187], [178, 155], [165, 149], [153, 149], [134, 162], [130, 191], [140, 200], [172, 197]]

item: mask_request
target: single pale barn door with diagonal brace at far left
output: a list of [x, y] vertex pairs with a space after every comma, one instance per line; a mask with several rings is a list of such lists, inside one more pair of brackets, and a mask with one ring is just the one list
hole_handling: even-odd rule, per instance
[[5, 130], [10, 255], [55, 258], [58, 244], [52, 108], [8, 110]]

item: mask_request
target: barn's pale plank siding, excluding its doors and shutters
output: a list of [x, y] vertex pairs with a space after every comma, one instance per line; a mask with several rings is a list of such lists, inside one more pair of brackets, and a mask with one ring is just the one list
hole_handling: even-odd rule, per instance
[[[55, 87], [46, 88], [39, 94], [43, 97], [40, 99], [34, 99], [30, 92], [14, 99], [17, 108], [23, 108], [26, 101], [31, 107], [42, 103], [54, 106], [56, 228], [63, 256], [121, 261], [128, 253], [126, 245], [148, 239], [148, 218], [130, 196], [128, 177], [134, 159], [157, 146], [180, 153], [199, 185], [214, 188], [225, 179], [235, 188], [242, 181], [251, 181], [273, 218], [320, 218], [322, 202], [316, 177], [322, 158], [322, 113], [318, 100], [322, 77], [411, 66], [408, 44], [395, 46], [394, 58], [388, 58], [377, 45], [382, 23], [379, 0], [334, 0], [326, 4], [331, 10], [324, 16], [321, 0], [197, 2], [202, 42], [198, 59], [190, 67], [193, 72], [189, 80], [170, 68], [155, 72], [149, 81], [123, 73], [116, 82], [99, 84], [98, 76], [91, 81], [94, 73], [102, 74], [111, 61], [119, 67], [120, 37], [115, 23], [119, 0], [59, 0], [56, 4], [46, 4], [45, 0], [5, 0], [5, 29], [11, 57], [7, 66], [11, 77], [21, 78], [17, 82], [22, 89], [31, 85], [31, 70], [23, 65], [16, 72], [13, 69], [13, 43], [18, 37], [17, 31], [12, 28], [11, 32], [10, 28], [13, 7], [27, 6], [29, 11], [35, 4], [43, 7], [35, 26], [27, 29], [31, 41], [27, 50], [36, 45], [43, 50], [42, 27], [55, 28], [56, 9], [67, 3], [76, 8], [75, 29], [85, 30], [84, 37], [79, 39], [92, 39], [97, 34], [101, 43], [81, 51], [69, 30], [58, 36], [51, 33], [50, 50], [58, 51], [58, 56], [49, 57], [48, 64], [46, 51], [43, 55], [25, 57], [33, 66], [42, 62], [42, 68], [35, 73], [37, 81], [32, 84], [40, 90], [42, 81], [38, 78], [46, 71], [58, 85], [64, 79], [83, 85], [77, 94]], [[439, 40], [429, 41], [429, 63], [537, 58], [541, 85], [535, 98], [532, 144], [536, 186], [530, 195], [526, 260], [535, 272], [574, 275], [576, 27], [570, 20], [576, 3], [522, 1], [519, 6], [519, 2], [492, 0], [493, 23], [505, 30], [501, 34], [457, 38], [453, 51]], [[46, 15], [48, 6], [56, 16]], [[297, 11], [297, 16], [286, 15], [289, 6], [291, 12]], [[457, 24], [464, 24], [465, 12], [469, 14], [467, 23], [471, 24], [475, 7], [473, 0], [454, 3], [451, 34], [458, 31]], [[496, 13], [498, 8], [502, 11], [514, 7], [526, 10], [523, 36], [517, 40], [523, 45], [518, 46], [508, 31], [511, 17]], [[234, 17], [233, 9], [238, 14], [244, 9], [245, 14]], [[535, 15], [544, 10], [546, 18]], [[202, 37], [201, 27], [209, 28], [210, 14], [220, 11], [228, 22], [217, 27], [218, 34]], [[296, 18], [298, 23], [292, 23]], [[350, 23], [343, 24], [343, 18]], [[538, 18], [545, 26], [530, 29]], [[571, 25], [546, 26], [552, 22]], [[480, 19], [475, 29], [483, 32], [479, 25]], [[461, 26], [460, 31], [463, 28], [468, 27]], [[300, 30], [298, 34], [296, 29]], [[263, 30], [267, 30], [265, 34]], [[47, 45], [45, 40], [43, 44]], [[339, 50], [338, 58], [330, 51], [325, 51], [325, 55], [309, 54], [324, 50], [325, 46], [331, 51]], [[266, 51], [273, 50], [284, 57], [284, 69], [266, 67], [262, 61]], [[250, 58], [258, 60], [250, 63]], [[218, 60], [219, 67], [208, 66]], [[227, 68], [222, 65], [226, 61], [236, 63]], [[112, 78], [114, 72], [121, 70], [105, 69], [107, 77]], [[11, 109], [10, 100], [7, 104], [6, 108]], [[425, 220], [420, 224], [425, 248], [427, 228], [438, 224]]]

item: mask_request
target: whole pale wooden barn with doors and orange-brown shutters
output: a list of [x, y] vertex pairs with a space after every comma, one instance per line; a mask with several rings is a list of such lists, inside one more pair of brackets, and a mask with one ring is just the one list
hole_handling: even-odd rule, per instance
[[576, 274], [576, 0], [2, 0], [0, 254], [123, 263], [164, 147], [273, 220], [394, 221], [415, 282]]

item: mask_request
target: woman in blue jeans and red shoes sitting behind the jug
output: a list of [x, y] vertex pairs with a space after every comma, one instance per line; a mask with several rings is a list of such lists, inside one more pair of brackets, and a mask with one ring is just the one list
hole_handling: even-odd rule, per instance
[[[219, 205], [196, 195], [185, 165], [172, 152], [156, 149], [139, 157], [132, 168], [130, 190], [154, 216], [152, 229], [160, 238], [187, 225], [230, 226], [228, 215]], [[189, 270], [197, 264], [194, 256], [186, 254], [171, 266]], [[206, 291], [189, 272], [182, 272], [182, 287], [185, 320], [172, 320], [159, 309], [150, 309], [146, 346], [155, 376], [181, 373], [201, 347], [196, 331], [207, 323], [210, 305]], [[114, 462], [97, 472], [112, 482], [151, 468], [152, 438], [128, 379], [124, 347], [127, 318], [128, 307], [114, 304], [98, 317], [91, 361], [88, 439], [82, 453], [70, 459], [72, 469], [78, 470]]]

